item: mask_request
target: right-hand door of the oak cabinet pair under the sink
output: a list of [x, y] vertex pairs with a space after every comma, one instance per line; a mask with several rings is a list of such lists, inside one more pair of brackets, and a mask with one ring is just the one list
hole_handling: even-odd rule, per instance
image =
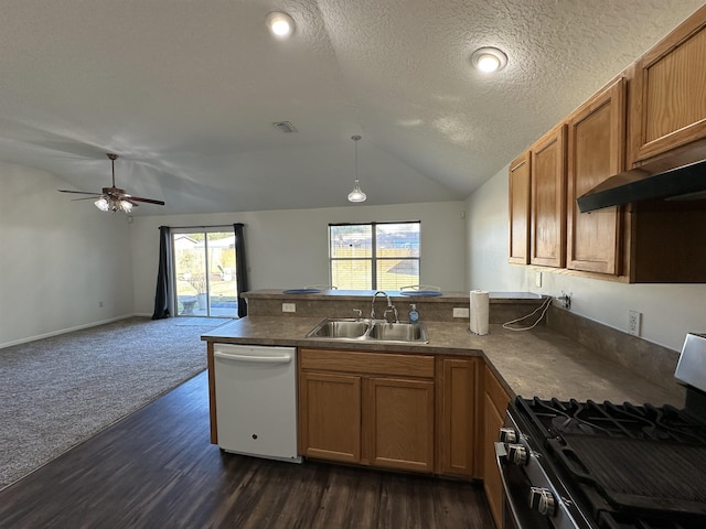
[[434, 381], [371, 378], [366, 392], [370, 464], [434, 472]]

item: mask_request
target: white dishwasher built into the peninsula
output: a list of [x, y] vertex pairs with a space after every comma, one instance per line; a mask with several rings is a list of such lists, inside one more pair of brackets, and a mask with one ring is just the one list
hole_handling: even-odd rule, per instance
[[214, 344], [218, 446], [301, 463], [296, 353], [295, 347]]

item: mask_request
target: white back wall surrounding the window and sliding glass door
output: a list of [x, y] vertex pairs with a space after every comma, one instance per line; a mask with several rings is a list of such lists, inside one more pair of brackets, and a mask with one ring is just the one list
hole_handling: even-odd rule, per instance
[[135, 310], [151, 314], [159, 262], [159, 226], [245, 224], [250, 290], [329, 282], [329, 223], [421, 220], [420, 281], [447, 291], [466, 287], [462, 202], [392, 206], [135, 217], [130, 225]]

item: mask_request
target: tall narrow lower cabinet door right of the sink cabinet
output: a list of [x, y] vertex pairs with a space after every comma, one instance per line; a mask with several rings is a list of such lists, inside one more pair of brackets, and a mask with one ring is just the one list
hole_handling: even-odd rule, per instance
[[477, 358], [439, 358], [438, 472], [475, 475]]

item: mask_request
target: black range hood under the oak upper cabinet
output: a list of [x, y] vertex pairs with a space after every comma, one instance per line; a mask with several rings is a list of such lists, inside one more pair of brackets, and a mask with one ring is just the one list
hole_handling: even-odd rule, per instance
[[706, 160], [652, 173], [633, 169], [606, 180], [576, 199], [581, 213], [655, 198], [706, 198]]

